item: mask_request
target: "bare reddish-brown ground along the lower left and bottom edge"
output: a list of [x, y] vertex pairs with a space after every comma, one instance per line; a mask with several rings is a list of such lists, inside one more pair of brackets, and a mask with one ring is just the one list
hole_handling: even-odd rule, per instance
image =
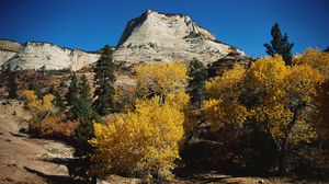
[[[29, 118], [18, 101], [0, 101], [0, 184], [76, 183], [68, 176], [66, 165], [45, 161], [53, 158], [72, 158], [73, 148], [59, 141], [31, 138], [20, 134], [24, 119]], [[136, 179], [110, 175], [98, 183], [137, 183]], [[79, 182], [77, 182], [79, 183]], [[320, 183], [295, 181], [287, 177], [236, 177], [217, 171], [191, 171], [179, 175], [171, 183]]]

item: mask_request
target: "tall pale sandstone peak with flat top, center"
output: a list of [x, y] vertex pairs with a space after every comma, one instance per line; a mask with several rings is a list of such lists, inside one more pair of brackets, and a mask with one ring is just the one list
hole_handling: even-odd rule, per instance
[[148, 10], [128, 22], [113, 59], [117, 62], [190, 61], [209, 64], [228, 54], [243, 56], [196, 25], [189, 16]]

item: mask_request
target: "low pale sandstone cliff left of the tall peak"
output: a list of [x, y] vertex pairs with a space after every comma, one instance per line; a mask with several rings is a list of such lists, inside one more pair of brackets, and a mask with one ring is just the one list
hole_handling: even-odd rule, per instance
[[49, 43], [27, 42], [4, 65], [12, 68], [39, 69], [67, 69], [79, 70], [84, 66], [95, 62], [99, 54], [89, 54], [77, 49], [61, 48]]

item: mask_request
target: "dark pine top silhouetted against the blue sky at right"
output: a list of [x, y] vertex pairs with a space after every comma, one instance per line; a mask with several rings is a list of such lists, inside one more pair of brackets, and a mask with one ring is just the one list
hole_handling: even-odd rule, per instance
[[275, 23], [271, 30], [272, 41], [271, 44], [264, 44], [266, 48], [266, 54], [272, 57], [275, 54], [279, 54], [283, 57], [283, 60], [286, 65], [292, 65], [292, 48], [294, 47], [294, 43], [288, 42], [288, 36], [286, 33], [282, 37], [281, 30], [277, 23]]

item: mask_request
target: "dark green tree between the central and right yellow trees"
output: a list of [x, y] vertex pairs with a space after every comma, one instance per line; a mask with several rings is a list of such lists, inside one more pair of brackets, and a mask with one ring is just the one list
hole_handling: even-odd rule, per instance
[[204, 100], [204, 83], [207, 79], [208, 72], [203, 62], [193, 58], [189, 65], [189, 81], [188, 92], [191, 96], [191, 103], [200, 107], [201, 102]]

